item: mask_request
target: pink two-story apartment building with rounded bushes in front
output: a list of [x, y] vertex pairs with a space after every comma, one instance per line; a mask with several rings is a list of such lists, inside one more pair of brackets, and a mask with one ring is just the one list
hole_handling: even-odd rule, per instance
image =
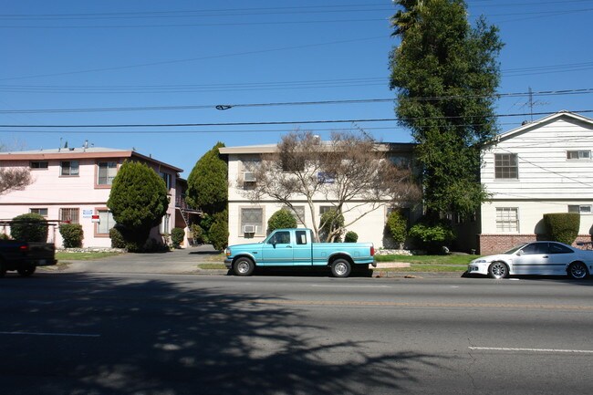
[[[99, 147], [0, 152], [0, 166], [29, 168], [32, 182], [22, 191], [0, 196], [0, 219], [10, 220], [23, 213], [39, 213], [47, 220], [80, 223], [86, 247], [109, 247], [109, 229], [115, 222], [107, 207], [111, 182], [123, 161], [147, 163], [161, 175], [170, 195], [167, 213], [151, 237], [162, 241], [172, 227], [186, 228], [182, 211], [182, 185], [179, 169], [132, 150]], [[4, 230], [9, 232], [8, 230]], [[62, 239], [56, 226], [49, 240], [57, 246]]]

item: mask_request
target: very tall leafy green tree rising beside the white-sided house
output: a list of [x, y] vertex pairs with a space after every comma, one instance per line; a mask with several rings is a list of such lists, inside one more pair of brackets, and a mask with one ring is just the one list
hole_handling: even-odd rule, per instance
[[503, 44], [495, 26], [467, 21], [463, 0], [397, 0], [390, 55], [396, 114], [419, 143], [429, 212], [473, 213], [487, 198], [481, 144], [497, 132], [495, 91]]

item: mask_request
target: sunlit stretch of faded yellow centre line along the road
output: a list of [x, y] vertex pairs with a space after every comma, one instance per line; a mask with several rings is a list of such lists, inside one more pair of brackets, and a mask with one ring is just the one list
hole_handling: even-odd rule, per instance
[[378, 307], [453, 307], [453, 308], [513, 308], [540, 310], [593, 311], [593, 306], [577, 305], [540, 305], [540, 304], [504, 304], [504, 303], [422, 303], [422, 302], [380, 302], [346, 300], [281, 300], [255, 299], [251, 303], [286, 306], [378, 306]]

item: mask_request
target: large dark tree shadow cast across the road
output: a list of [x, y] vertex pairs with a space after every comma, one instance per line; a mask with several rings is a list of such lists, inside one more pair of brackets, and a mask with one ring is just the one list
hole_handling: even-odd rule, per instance
[[[6, 393], [395, 393], [413, 390], [416, 373], [440, 363], [410, 351], [370, 352], [372, 338], [316, 340], [328, 328], [304, 324], [302, 312], [277, 296], [159, 280], [57, 278], [32, 278], [26, 288], [3, 282], [1, 293], [14, 300], [0, 308], [3, 330], [97, 337], [46, 338], [42, 354], [40, 337], [6, 341], [3, 352], [11, 358], [0, 361]], [[39, 300], [47, 320], [11, 318], [11, 310], [38, 307]]]

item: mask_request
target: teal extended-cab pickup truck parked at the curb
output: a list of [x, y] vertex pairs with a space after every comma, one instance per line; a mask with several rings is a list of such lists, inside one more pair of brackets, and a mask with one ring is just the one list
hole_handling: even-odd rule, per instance
[[235, 275], [251, 275], [255, 266], [328, 266], [335, 277], [375, 263], [371, 243], [312, 243], [310, 229], [276, 229], [261, 243], [230, 245], [224, 265]]

